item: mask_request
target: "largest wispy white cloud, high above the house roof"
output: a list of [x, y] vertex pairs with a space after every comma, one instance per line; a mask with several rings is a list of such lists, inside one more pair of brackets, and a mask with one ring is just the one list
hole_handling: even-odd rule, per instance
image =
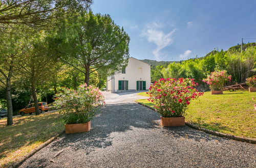
[[157, 48], [153, 50], [153, 54], [155, 55], [155, 59], [157, 61], [160, 61], [161, 55], [164, 53], [161, 52], [161, 50], [173, 43], [173, 34], [176, 31], [176, 29], [170, 31], [169, 33], [165, 34], [163, 31], [159, 31], [157, 29], [160, 29], [163, 27], [163, 24], [161, 23], [155, 23], [147, 24], [146, 29], [142, 31], [141, 36], [146, 37], [148, 42], [153, 42], [157, 45]]

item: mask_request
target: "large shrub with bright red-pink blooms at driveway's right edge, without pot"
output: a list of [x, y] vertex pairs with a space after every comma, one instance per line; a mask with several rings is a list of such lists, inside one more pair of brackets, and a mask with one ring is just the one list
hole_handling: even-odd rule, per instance
[[190, 78], [161, 78], [150, 86], [147, 100], [156, 104], [162, 117], [183, 117], [190, 100], [203, 95], [195, 88], [197, 85]]

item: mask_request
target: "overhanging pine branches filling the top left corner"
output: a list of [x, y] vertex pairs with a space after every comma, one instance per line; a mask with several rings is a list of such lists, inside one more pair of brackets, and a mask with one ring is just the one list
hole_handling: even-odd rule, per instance
[[78, 9], [87, 9], [91, 0], [3, 0], [0, 2], [0, 27], [15, 24], [38, 27]]

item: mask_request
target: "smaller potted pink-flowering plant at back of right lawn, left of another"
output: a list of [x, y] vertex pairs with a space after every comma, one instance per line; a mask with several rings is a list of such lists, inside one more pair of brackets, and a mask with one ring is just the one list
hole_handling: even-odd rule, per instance
[[227, 71], [223, 70], [211, 72], [206, 79], [203, 79], [203, 82], [209, 85], [210, 93], [215, 95], [223, 94], [222, 88], [224, 87], [224, 83], [228, 80], [231, 81], [231, 75], [228, 76]]

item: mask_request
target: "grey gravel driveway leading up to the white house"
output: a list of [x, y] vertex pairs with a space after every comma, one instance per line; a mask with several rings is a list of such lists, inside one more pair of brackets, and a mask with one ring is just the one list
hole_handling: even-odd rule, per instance
[[91, 131], [63, 134], [20, 167], [256, 166], [255, 145], [187, 126], [163, 128], [155, 111], [134, 103], [143, 98], [136, 93], [104, 95], [108, 104]]

